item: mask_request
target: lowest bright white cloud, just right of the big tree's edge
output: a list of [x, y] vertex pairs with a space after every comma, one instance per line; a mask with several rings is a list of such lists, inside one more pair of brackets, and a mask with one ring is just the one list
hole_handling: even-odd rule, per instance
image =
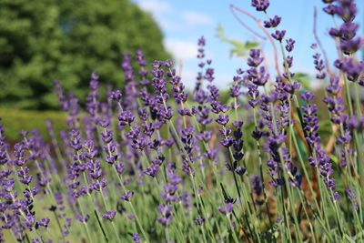
[[195, 42], [167, 38], [164, 44], [177, 59], [186, 60], [197, 56], [197, 44]]

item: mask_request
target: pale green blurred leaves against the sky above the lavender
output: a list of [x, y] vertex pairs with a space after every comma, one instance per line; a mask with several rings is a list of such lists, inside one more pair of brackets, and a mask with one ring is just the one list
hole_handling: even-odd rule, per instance
[[228, 37], [222, 25], [217, 25], [217, 37], [221, 41], [226, 42], [232, 46], [230, 49], [230, 56], [247, 56], [249, 49], [259, 46], [258, 42], [242, 42], [240, 40], [235, 40]]

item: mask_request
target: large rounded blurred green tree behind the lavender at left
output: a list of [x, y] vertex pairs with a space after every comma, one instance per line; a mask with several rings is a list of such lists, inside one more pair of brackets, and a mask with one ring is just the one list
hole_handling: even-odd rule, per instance
[[84, 96], [92, 71], [121, 86], [121, 53], [170, 57], [162, 41], [152, 16], [129, 0], [0, 0], [0, 104], [55, 107], [54, 79]]

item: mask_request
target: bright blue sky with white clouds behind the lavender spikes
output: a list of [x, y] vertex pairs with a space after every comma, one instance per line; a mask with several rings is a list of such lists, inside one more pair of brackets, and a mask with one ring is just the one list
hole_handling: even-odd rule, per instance
[[[229, 37], [241, 41], [254, 40], [248, 30], [242, 27], [231, 14], [229, 5], [248, 10], [250, 13], [264, 20], [265, 16], [255, 12], [250, 6], [249, 0], [134, 0], [143, 9], [152, 13], [165, 35], [165, 46], [182, 62], [182, 77], [187, 87], [195, 83], [197, 72], [197, 38], [204, 35], [207, 39], [207, 57], [213, 60], [216, 72], [217, 86], [227, 86], [235, 75], [238, 67], [245, 67], [245, 60], [241, 57], [229, 55], [230, 46], [222, 43], [216, 36], [217, 25], [224, 27]], [[314, 43], [312, 32], [313, 7], [318, 6], [318, 33], [329, 54], [330, 60], [336, 58], [336, 49], [333, 40], [329, 37], [329, 27], [333, 21], [329, 15], [322, 13], [322, 1], [320, 0], [271, 0], [268, 15], [282, 16], [279, 29], [287, 30], [287, 37], [295, 39], [296, 46], [292, 53], [294, 56], [294, 72], [306, 72], [313, 74], [312, 55], [314, 50], [310, 48]], [[357, 1], [359, 15], [357, 21], [363, 23], [364, 1]], [[248, 25], [248, 17], [240, 15]], [[360, 28], [363, 29], [362, 25]], [[362, 33], [362, 32], [361, 32]], [[268, 65], [272, 64], [272, 49], [268, 41], [262, 43], [265, 49]], [[315, 85], [315, 84], [313, 84]]]

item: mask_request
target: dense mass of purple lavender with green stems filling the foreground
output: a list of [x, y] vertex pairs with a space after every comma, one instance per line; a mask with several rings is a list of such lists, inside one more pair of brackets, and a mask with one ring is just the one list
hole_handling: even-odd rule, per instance
[[85, 110], [55, 82], [68, 114], [62, 139], [46, 121], [49, 144], [34, 130], [11, 145], [0, 125], [0, 241], [364, 241], [363, 40], [354, 1], [324, 2], [337, 70], [320, 45], [313, 67], [329, 80], [329, 137], [292, 72], [296, 40], [268, 0], [252, 0], [283, 71], [269, 74], [263, 50], [251, 49], [226, 102], [201, 37], [191, 93], [171, 60], [147, 64], [137, 50], [123, 55], [126, 85], [108, 87], [106, 100], [92, 73]]

